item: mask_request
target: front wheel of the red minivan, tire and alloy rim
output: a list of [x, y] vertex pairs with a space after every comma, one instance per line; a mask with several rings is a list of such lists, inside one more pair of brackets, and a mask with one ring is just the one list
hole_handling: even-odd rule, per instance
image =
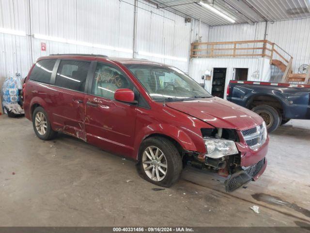
[[164, 137], [150, 137], [140, 146], [138, 171], [143, 179], [159, 186], [170, 187], [182, 172], [179, 151]]

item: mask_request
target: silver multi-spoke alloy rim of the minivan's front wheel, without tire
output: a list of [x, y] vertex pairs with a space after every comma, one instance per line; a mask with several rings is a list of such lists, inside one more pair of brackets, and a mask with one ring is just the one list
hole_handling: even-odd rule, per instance
[[168, 166], [165, 154], [155, 146], [147, 147], [142, 155], [145, 174], [155, 182], [165, 179]]

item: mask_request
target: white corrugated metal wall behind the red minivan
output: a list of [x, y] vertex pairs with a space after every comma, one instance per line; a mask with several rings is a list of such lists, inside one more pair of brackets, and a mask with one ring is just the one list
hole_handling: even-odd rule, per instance
[[[133, 57], [134, 3], [134, 0], [0, 0], [0, 28], [27, 34], [0, 33], [0, 86], [5, 77], [16, 72], [24, 78], [31, 64], [48, 54]], [[200, 30], [198, 27], [198, 20], [186, 23], [182, 16], [139, 0], [135, 55], [187, 72], [190, 43], [196, 33], [200, 31], [202, 40], [208, 39], [209, 27], [203, 23]], [[33, 35], [50, 36], [58, 42]], [[70, 40], [75, 44], [67, 43]], [[46, 51], [41, 50], [42, 42], [46, 43]], [[95, 48], [94, 44], [109, 49]]]

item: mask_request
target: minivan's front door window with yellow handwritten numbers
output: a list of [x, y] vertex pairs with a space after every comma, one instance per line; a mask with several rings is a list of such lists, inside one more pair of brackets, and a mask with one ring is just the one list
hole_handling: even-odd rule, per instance
[[98, 63], [94, 73], [92, 94], [108, 99], [114, 99], [116, 89], [133, 90], [133, 84], [117, 68]]

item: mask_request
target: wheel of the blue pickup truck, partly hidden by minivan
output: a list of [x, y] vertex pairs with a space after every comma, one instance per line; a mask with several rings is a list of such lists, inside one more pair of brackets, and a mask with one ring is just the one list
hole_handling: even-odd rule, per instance
[[269, 105], [258, 105], [252, 108], [254, 113], [260, 115], [266, 123], [268, 133], [275, 131], [281, 122], [278, 111]]

